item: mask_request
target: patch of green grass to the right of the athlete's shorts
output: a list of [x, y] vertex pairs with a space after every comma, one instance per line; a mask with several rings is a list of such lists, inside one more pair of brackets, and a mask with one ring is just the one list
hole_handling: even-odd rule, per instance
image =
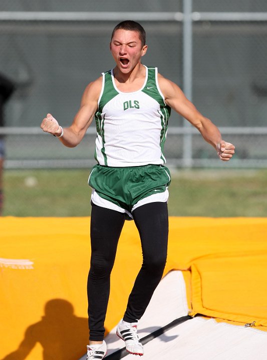
[[172, 176], [175, 216], [267, 216], [267, 170], [192, 170]]

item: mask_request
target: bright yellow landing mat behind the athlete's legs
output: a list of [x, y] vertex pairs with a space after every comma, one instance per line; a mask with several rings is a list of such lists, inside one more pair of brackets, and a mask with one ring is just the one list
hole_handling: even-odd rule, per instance
[[[0, 218], [1, 360], [83, 355], [89, 231], [89, 217]], [[170, 217], [164, 274], [183, 270], [192, 313], [267, 329], [266, 235], [267, 218]], [[124, 313], [141, 262], [138, 232], [127, 221], [111, 276], [107, 332]]]

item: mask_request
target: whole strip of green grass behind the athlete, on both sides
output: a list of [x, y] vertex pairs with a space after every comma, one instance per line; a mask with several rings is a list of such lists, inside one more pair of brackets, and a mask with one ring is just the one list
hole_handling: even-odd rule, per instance
[[[173, 169], [172, 216], [267, 216], [267, 169]], [[4, 215], [88, 216], [89, 170], [6, 170]]]

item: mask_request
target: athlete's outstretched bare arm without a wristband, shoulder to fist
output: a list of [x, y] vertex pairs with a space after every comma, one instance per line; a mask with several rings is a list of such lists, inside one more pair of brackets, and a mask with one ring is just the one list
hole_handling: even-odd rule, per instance
[[199, 130], [203, 138], [217, 150], [221, 160], [228, 161], [234, 154], [234, 145], [222, 140], [217, 126], [196, 109], [179, 86], [160, 74], [158, 75], [158, 82], [166, 104]]

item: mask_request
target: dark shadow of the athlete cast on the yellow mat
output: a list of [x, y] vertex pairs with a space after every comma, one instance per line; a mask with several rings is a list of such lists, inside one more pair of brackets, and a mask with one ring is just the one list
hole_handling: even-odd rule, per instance
[[38, 342], [43, 360], [79, 358], [86, 352], [88, 319], [76, 316], [69, 301], [52, 299], [46, 303], [42, 319], [27, 328], [18, 349], [1, 360], [23, 360]]

